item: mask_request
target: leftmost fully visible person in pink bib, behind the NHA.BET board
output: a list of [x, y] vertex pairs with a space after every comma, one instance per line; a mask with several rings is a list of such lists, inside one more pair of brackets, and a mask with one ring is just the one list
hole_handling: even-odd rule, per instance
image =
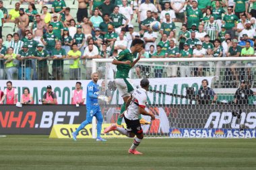
[[0, 104], [3, 104], [5, 98], [5, 104], [16, 104], [18, 101], [18, 90], [12, 87], [11, 81], [7, 81], [6, 85], [7, 89], [5, 89], [3, 92], [3, 97], [1, 98]]

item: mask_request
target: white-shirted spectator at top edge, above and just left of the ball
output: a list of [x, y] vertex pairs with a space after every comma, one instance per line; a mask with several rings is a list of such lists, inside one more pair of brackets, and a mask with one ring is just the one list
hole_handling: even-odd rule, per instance
[[158, 12], [158, 9], [156, 9], [156, 6], [153, 3], [150, 3], [150, 0], [145, 0], [145, 3], [141, 3], [141, 5], [139, 6], [137, 20], [139, 24], [141, 24], [141, 22], [147, 18], [147, 11]]

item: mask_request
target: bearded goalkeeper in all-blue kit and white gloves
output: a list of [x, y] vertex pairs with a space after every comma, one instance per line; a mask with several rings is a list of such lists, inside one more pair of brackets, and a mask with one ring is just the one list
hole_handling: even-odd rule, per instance
[[73, 140], [76, 140], [76, 136], [79, 131], [82, 130], [86, 125], [92, 123], [92, 117], [95, 116], [97, 119], [97, 138], [96, 141], [106, 141], [104, 138], [100, 137], [100, 132], [102, 128], [103, 117], [100, 110], [100, 105], [98, 104], [98, 99], [108, 102], [108, 97], [104, 95], [98, 95], [99, 85], [98, 73], [92, 73], [92, 81], [87, 86], [87, 95], [86, 95], [86, 120], [72, 133]]

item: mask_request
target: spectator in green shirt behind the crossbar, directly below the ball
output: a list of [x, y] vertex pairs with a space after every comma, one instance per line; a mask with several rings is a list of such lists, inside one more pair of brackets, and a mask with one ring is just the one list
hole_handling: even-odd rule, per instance
[[[162, 51], [162, 46], [157, 45], [156, 46], [156, 52], [151, 56], [151, 58], [164, 58], [165, 53]], [[164, 65], [163, 62], [155, 62], [156, 65]], [[162, 66], [156, 66], [154, 67], [154, 73], [155, 73], [155, 78], [162, 78], [162, 73], [164, 69]]]

